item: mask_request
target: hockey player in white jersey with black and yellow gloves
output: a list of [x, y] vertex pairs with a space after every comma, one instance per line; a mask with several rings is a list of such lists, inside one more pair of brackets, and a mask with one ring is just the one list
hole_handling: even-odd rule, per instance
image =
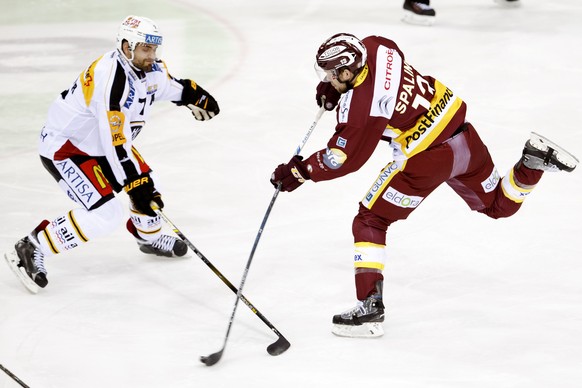
[[194, 81], [172, 77], [157, 49], [163, 37], [150, 19], [128, 16], [119, 27], [117, 48], [95, 60], [51, 105], [42, 128], [42, 164], [77, 207], [43, 220], [15, 250], [9, 265], [32, 291], [48, 283], [44, 260], [114, 230], [125, 219], [115, 197], [130, 197], [127, 229], [139, 249], [183, 256], [188, 248], [162, 234], [152, 203], [163, 208], [151, 168], [133, 146], [154, 101], [191, 109], [197, 120], [220, 112], [216, 100]]

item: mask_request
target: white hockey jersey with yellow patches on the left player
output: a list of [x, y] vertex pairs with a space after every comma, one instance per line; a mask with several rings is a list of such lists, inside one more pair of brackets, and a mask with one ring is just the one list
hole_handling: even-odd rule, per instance
[[162, 61], [155, 62], [149, 72], [135, 71], [119, 51], [110, 51], [53, 102], [39, 153], [52, 160], [104, 156], [117, 185], [123, 186], [128, 177], [141, 173], [132, 142], [151, 105], [157, 100], [180, 101], [182, 90]]

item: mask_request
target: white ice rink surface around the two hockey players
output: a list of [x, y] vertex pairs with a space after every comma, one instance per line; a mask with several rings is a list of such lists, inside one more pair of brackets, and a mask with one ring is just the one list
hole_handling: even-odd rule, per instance
[[[0, 0], [0, 251], [72, 203], [43, 170], [47, 108], [114, 46], [128, 14], [164, 31], [163, 57], [218, 99], [196, 122], [159, 103], [137, 146], [163, 179], [166, 214], [235, 285], [273, 188], [317, 112], [313, 60], [336, 32], [394, 39], [410, 63], [469, 106], [503, 174], [530, 131], [582, 155], [582, 4], [435, 0], [432, 28], [400, 22], [401, 1]], [[333, 132], [326, 114], [304, 154]], [[580, 171], [547, 174], [519, 214], [472, 213], [447, 187], [389, 230], [385, 336], [345, 339], [331, 317], [355, 303], [351, 221], [387, 162], [282, 193], [245, 296], [292, 343], [239, 304], [195, 255], [142, 254], [123, 226], [47, 260], [29, 294], [0, 264], [0, 363], [33, 388], [582, 386]], [[0, 372], [0, 387], [17, 387]]]

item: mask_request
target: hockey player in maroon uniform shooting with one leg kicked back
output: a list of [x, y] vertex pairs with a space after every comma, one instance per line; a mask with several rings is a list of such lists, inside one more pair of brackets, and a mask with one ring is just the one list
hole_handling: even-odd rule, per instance
[[535, 133], [522, 155], [501, 176], [477, 131], [466, 121], [465, 102], [437, 79], [406, 62], [393, 41], [359, 40], [337, 34], [316, 56], [322, 82], [316, 99], [337, 107], [337, 125], [327, 147], [303, 160], [280, 164], [271, 182], [293, 191], [306, 180], [320, 182], [358, 170], [378, 142], [392, 148], [389, 163], [372, 181], [359, 204], [352, 232], [357, 305], [333, 317], [340, 336], [383, 334], [382, 283], [388, 227], [406, 219], [442, 183], [472, 210], [491, 218], [509, 217], [544, 171], [572, 171], [578, 160]]

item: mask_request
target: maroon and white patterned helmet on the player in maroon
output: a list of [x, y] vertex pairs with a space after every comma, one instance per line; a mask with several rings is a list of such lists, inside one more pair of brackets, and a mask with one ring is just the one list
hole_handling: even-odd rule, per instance
[[319, 46], [315, 57], [315, 70], [322, 81], [329, 81], [328, 72], [336, 73], [348, 68], [358, 74], [366, 64], [368, 52], [361, 40], [352, 34], [335, 34]]

